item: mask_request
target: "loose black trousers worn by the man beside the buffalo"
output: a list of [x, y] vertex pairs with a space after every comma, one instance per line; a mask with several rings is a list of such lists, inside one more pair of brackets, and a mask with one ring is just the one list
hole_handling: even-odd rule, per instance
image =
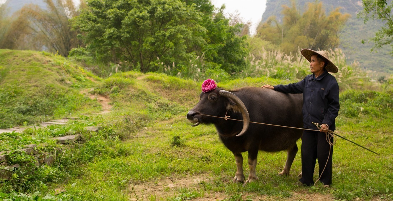
[[[331, 142], [333, 139], [331, 139]], [[329, 149], [331, 148], [330, 155]], [[332, 156], [333, 146], [330, 146], [326, 140], [326, 134], [317, 131], [303, 132], [301, 139], [301, 172], [300, 182], [311, 186], [314, 185], [312, 176], [314, 175], [316, 159], [319, 165], [319, 177], [323, 185], [332, 184]], [[326, 163], [326, 161], [329, 161]], [[325, 168], [326, 165], [326, 168]], [[325, 168], [325, 170], [323, 170]], [[322, 174], [323, 171], [323, 174]], [[321, 175], [322, 174], [322, 175]], [[318, 179], [317, 178], [317, 179]]]

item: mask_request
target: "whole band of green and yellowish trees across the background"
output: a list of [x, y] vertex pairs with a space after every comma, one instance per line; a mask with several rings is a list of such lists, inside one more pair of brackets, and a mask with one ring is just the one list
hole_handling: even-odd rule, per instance
[[26, 5], [12, 17], [0, 7], [0, 48], [72, 57], [99, 66], [92, 71], [104, 77], [119, 70], [194, 80], [239, 76], [252, 69], [250, 55], [264, 51], [337, 48], [349, 18], [338, 8], [326, 15], [321, 2], [302, 14], [293, 4], [284, 6], [282, 23], [271, 17], [250, 36], [248, 24], [210, 0], [44, 1], [46, 9]]

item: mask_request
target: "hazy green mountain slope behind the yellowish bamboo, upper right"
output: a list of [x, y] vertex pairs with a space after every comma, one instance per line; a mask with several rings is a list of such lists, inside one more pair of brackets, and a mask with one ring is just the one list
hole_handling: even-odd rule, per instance
[[[304, 9], [307, 7], [309, 2], [315, 2], [313, 0], [297, 0], [296, 6], [298, 8]], [[347, 1], [347, 0], [320, 0], [326, 9], [328, 14], [332, 9], [336, 7], [341, 7], [342, 13], [351, 14], [351, 18], [348, 20], [346, 26], [342, 31], [340, 36], [340, 48], [343, 49], [345, 56], [347, 57], [348, 63], [354, 61], [360, 63], [360, 67], [372, 71], [378, 71], [379, 75], [374, 75], [376, 77], [380, 75], [385, 75], [386, 73], [393, 73], [393, 66], [391, 62], [393, 58], [389, 55], [390, 46], [384, 47], [382, 49], [376, 49], [376, 51], [371, 52], [373, 44], [368, 43], [368, 38], [374, 37], [375, 32], [382, 25], [382, 22], [369, 21], [364, 24], [362, 19], [358, 19], [356, 13], [362, 9], [362, 4], [360, 0], [357, 1]], [[269, 18], [269, 16], [277, 16], [277, 19], [281, 20], [282, 6], [291, 6], [290, 0], [267, 0], [266, 10], [262, 16], [262, 22]], [[303, 10], [301, 9], [301, 12]], [[365, 44], [361, 41], [365, 40]], [[307, 47], [301, 47], [307, 48]]]

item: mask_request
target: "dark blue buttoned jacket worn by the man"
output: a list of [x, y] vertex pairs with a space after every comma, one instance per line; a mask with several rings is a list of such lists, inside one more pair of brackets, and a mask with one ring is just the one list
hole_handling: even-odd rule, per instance
[[317, 129], [311, 122], [327, 124], [329, 130], [336, 130], [336, 119], [340, 102], [338, 100], [338, 83], [326, 69], [319, 77], [314, 73], [293, 84], [279, 84], [275, 91], [283, 93], [303, 93], [303, 124], [304, 128]]

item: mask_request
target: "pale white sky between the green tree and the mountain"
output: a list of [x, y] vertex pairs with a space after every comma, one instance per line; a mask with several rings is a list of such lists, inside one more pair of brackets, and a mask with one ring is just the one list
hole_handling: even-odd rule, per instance
[[[74, 1], [77, 2], [78, 0]], [[4, 2], [6, 2], [6, 0], [0, 0], [0, 4]], [[266, 8], [266, 0], [211, 0], [211, 3], [214, 4], [215, 7], [221, 7], [222, 4], [225, 4], [226, 13], [238, 11], [245, 22], [251, 21], [251, 34], [255, 34], [255, 29], [261, 21], [262, 14]]]

